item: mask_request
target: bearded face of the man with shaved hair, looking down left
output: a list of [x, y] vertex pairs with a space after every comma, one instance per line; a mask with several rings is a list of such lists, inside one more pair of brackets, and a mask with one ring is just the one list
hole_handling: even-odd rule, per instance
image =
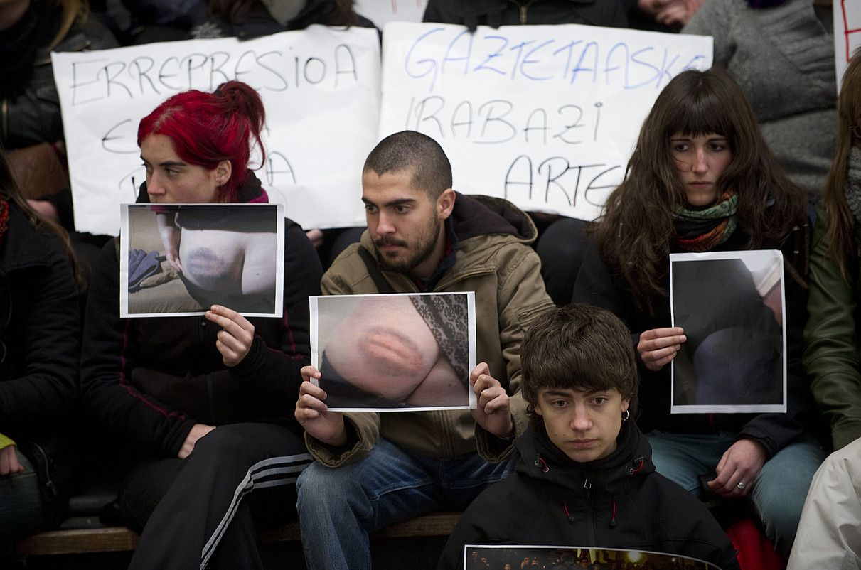
[[377, 257], [387, 270], [429, 277], [443, 257], [443, 223], [454, 206], [454, 191], [447, 189], [432, 201], [412, 186], [412, 171], [362, 175], [362, 201], [368, 231]]

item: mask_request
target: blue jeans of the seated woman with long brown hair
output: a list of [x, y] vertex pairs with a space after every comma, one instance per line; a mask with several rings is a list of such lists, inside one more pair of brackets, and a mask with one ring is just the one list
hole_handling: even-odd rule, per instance
[[[717, 463], [736, 436], [727, 431], [683, 434], [654, 430], [646, 434], [658, 473], [697, 497], [701, 495], [698, 476], [715, 474]], [[802, 437], [765, 462], [748, 495], [765, 526], [765, 535], [784, 561], [789, 559], [796, 539], [810, 480], [824, 459], [821, 445], [813, 437]]]

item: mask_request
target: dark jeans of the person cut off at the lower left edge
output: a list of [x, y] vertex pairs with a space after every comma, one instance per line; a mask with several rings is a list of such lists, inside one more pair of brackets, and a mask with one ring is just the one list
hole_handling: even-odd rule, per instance
[[31, 535], [46, 524], [33, 466], [20, 451], [15, 452], [24, 472], [0, 477], [0, 543]]

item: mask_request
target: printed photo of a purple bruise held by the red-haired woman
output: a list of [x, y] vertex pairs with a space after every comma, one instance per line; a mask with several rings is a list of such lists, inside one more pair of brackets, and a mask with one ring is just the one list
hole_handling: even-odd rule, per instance
[[124, 206], [121, 316], [201, 314], [214, 304], [280, 316], [281, 210], [276, 204]]

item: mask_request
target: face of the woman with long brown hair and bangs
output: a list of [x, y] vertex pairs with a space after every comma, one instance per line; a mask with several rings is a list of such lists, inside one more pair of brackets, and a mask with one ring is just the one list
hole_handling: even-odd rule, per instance
[[716, 133], [696, 137], [675, 133], [670, 138], [670, 152], [687, 206], [699, 209], [713, 205], [718, 198], [717, 180], [733, 160], [726, 137]]

